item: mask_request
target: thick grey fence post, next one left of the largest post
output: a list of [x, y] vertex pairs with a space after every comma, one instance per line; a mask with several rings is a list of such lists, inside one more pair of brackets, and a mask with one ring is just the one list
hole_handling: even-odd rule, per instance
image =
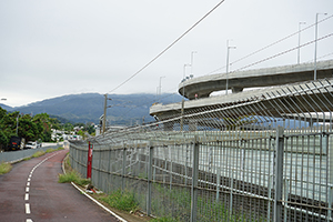
[[196, 221], [196, 201], [198, 201], [198, 178], [199, 178], [199, 141], [194, 138], [193, 144], [193, 170], [191, 188], [191, 222]]

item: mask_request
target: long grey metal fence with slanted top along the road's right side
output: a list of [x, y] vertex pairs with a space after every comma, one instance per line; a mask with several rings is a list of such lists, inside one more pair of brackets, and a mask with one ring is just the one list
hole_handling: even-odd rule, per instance
[[[333, 79], [270, 88], [108, 131], [90, 139], [92, 182], [176, 221], [332, 221], [332, 92]], [[72, 141], [83, 175], [87, 158]]]

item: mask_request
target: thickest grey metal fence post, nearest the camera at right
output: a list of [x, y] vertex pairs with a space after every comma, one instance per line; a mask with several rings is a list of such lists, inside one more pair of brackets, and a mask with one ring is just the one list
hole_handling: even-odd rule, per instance
[[278, 127], [275, 140], [275, 198], [274, 198], [274, 222], [281, 222], [282, 218], [282, 189], [283, 189], [283, 153], [284, 153], [283, 128]]

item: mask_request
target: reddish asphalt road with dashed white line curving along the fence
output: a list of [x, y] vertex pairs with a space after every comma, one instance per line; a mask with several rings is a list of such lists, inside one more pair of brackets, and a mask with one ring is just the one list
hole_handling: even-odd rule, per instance
[[68, 150], [13, 165], [0, 175], [0, 221], [115, 222], [69, 183], [58, 183], [61, 161]]

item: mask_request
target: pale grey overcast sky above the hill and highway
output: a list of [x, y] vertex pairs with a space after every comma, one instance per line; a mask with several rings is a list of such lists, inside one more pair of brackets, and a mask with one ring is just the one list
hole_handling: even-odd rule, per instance
[[[301, 32], [301, 44], [333, 32], [333, 0], [225, 0], [191, 32], [151, 65], [137, 73], [219, 0], [1, 0], [0, 101], [23, 105], [63, 94], [176, 92], [183, 67], [194, 77], [225, 72], [226, 40], [230, 70], [238, 70], [297, 47], [294, 34], [279, 44], [252, 52]], [[333, 37], [317, 43], [319, 60], [333, 59]], [[301, 49], [301, 62], [313, 61], [314, 44]], [[233, 63], [233, 61], [238, 61]], [[297, 51], [248, 69], [293, 64]], [[186, 70], [190, 74], [191, 69]], [[118, 88], [117, 90], [114, 90]]]

